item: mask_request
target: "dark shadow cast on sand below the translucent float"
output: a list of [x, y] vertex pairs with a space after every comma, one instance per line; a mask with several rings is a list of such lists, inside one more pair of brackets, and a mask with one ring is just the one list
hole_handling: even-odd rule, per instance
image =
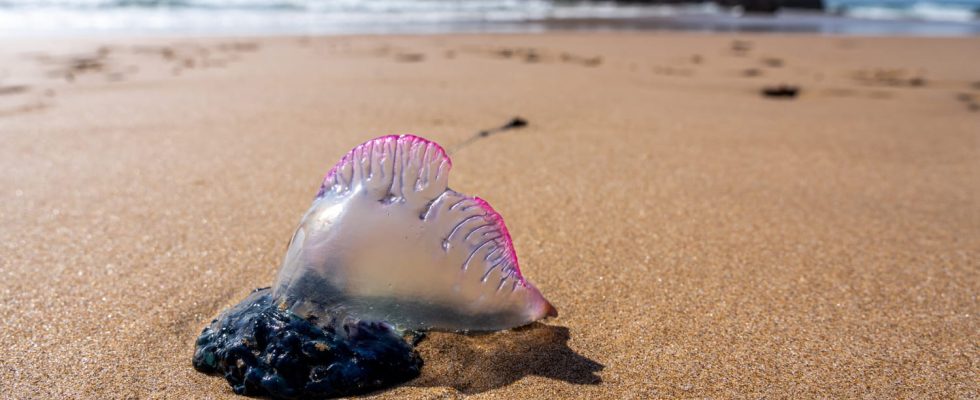
[[419, 346], [426, 360], [417, 387], [452, 387], [483, 393], [536, 375], [577, 385], [598, 385], [604, 365], [568, 347], [563, 326], [534, 323], [484, 334], [433, 333]]

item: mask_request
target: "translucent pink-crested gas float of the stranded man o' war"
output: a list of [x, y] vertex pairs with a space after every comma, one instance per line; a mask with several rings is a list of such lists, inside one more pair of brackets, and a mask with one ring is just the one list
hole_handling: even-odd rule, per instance
[[497, 330], [557, 311], [522, 275], [500, 215], [448, 188], [436, 143], [384, 136], [330, 170], [273, 296], [298, 315], [401, 329]]

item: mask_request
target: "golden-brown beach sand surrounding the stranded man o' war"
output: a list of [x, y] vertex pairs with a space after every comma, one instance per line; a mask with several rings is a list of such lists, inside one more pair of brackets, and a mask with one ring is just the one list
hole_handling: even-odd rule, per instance
[[[980, 39], [0, 53], [0, 397], [235, 398], [193, 370], [194, 339], [272, 283], [327, 169], [382, 134], [452, 149], [513, 116], [530, 126], [452, 154], [451, 185], [507, 218], [561, 316], [433, 334], [423, 375], [378, 397], [980, 395]], [[802, 92], [759, 95], [779, 83]]]

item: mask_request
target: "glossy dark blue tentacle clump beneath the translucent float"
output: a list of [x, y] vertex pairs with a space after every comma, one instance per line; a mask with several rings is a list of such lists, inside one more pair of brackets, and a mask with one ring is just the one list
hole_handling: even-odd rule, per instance
[[237, 394], [279, 399], [349, 396], [419, 375], [413, 345], [377, 322], [321, 328], [258, 289], [201, 332], [194, 368], [223, 375]]

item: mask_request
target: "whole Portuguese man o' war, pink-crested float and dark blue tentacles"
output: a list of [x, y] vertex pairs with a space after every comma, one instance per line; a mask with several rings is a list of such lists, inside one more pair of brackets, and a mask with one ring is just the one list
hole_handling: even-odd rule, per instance
[[204, 329], [194, 365], [237, 393], [362, 393], [418, 375], [407, 334], [499, 330], [555, 308], [524, 279], [500, 215], [447, 187], [442, 147], [385, 136], [327, 174], [275, 285]]

